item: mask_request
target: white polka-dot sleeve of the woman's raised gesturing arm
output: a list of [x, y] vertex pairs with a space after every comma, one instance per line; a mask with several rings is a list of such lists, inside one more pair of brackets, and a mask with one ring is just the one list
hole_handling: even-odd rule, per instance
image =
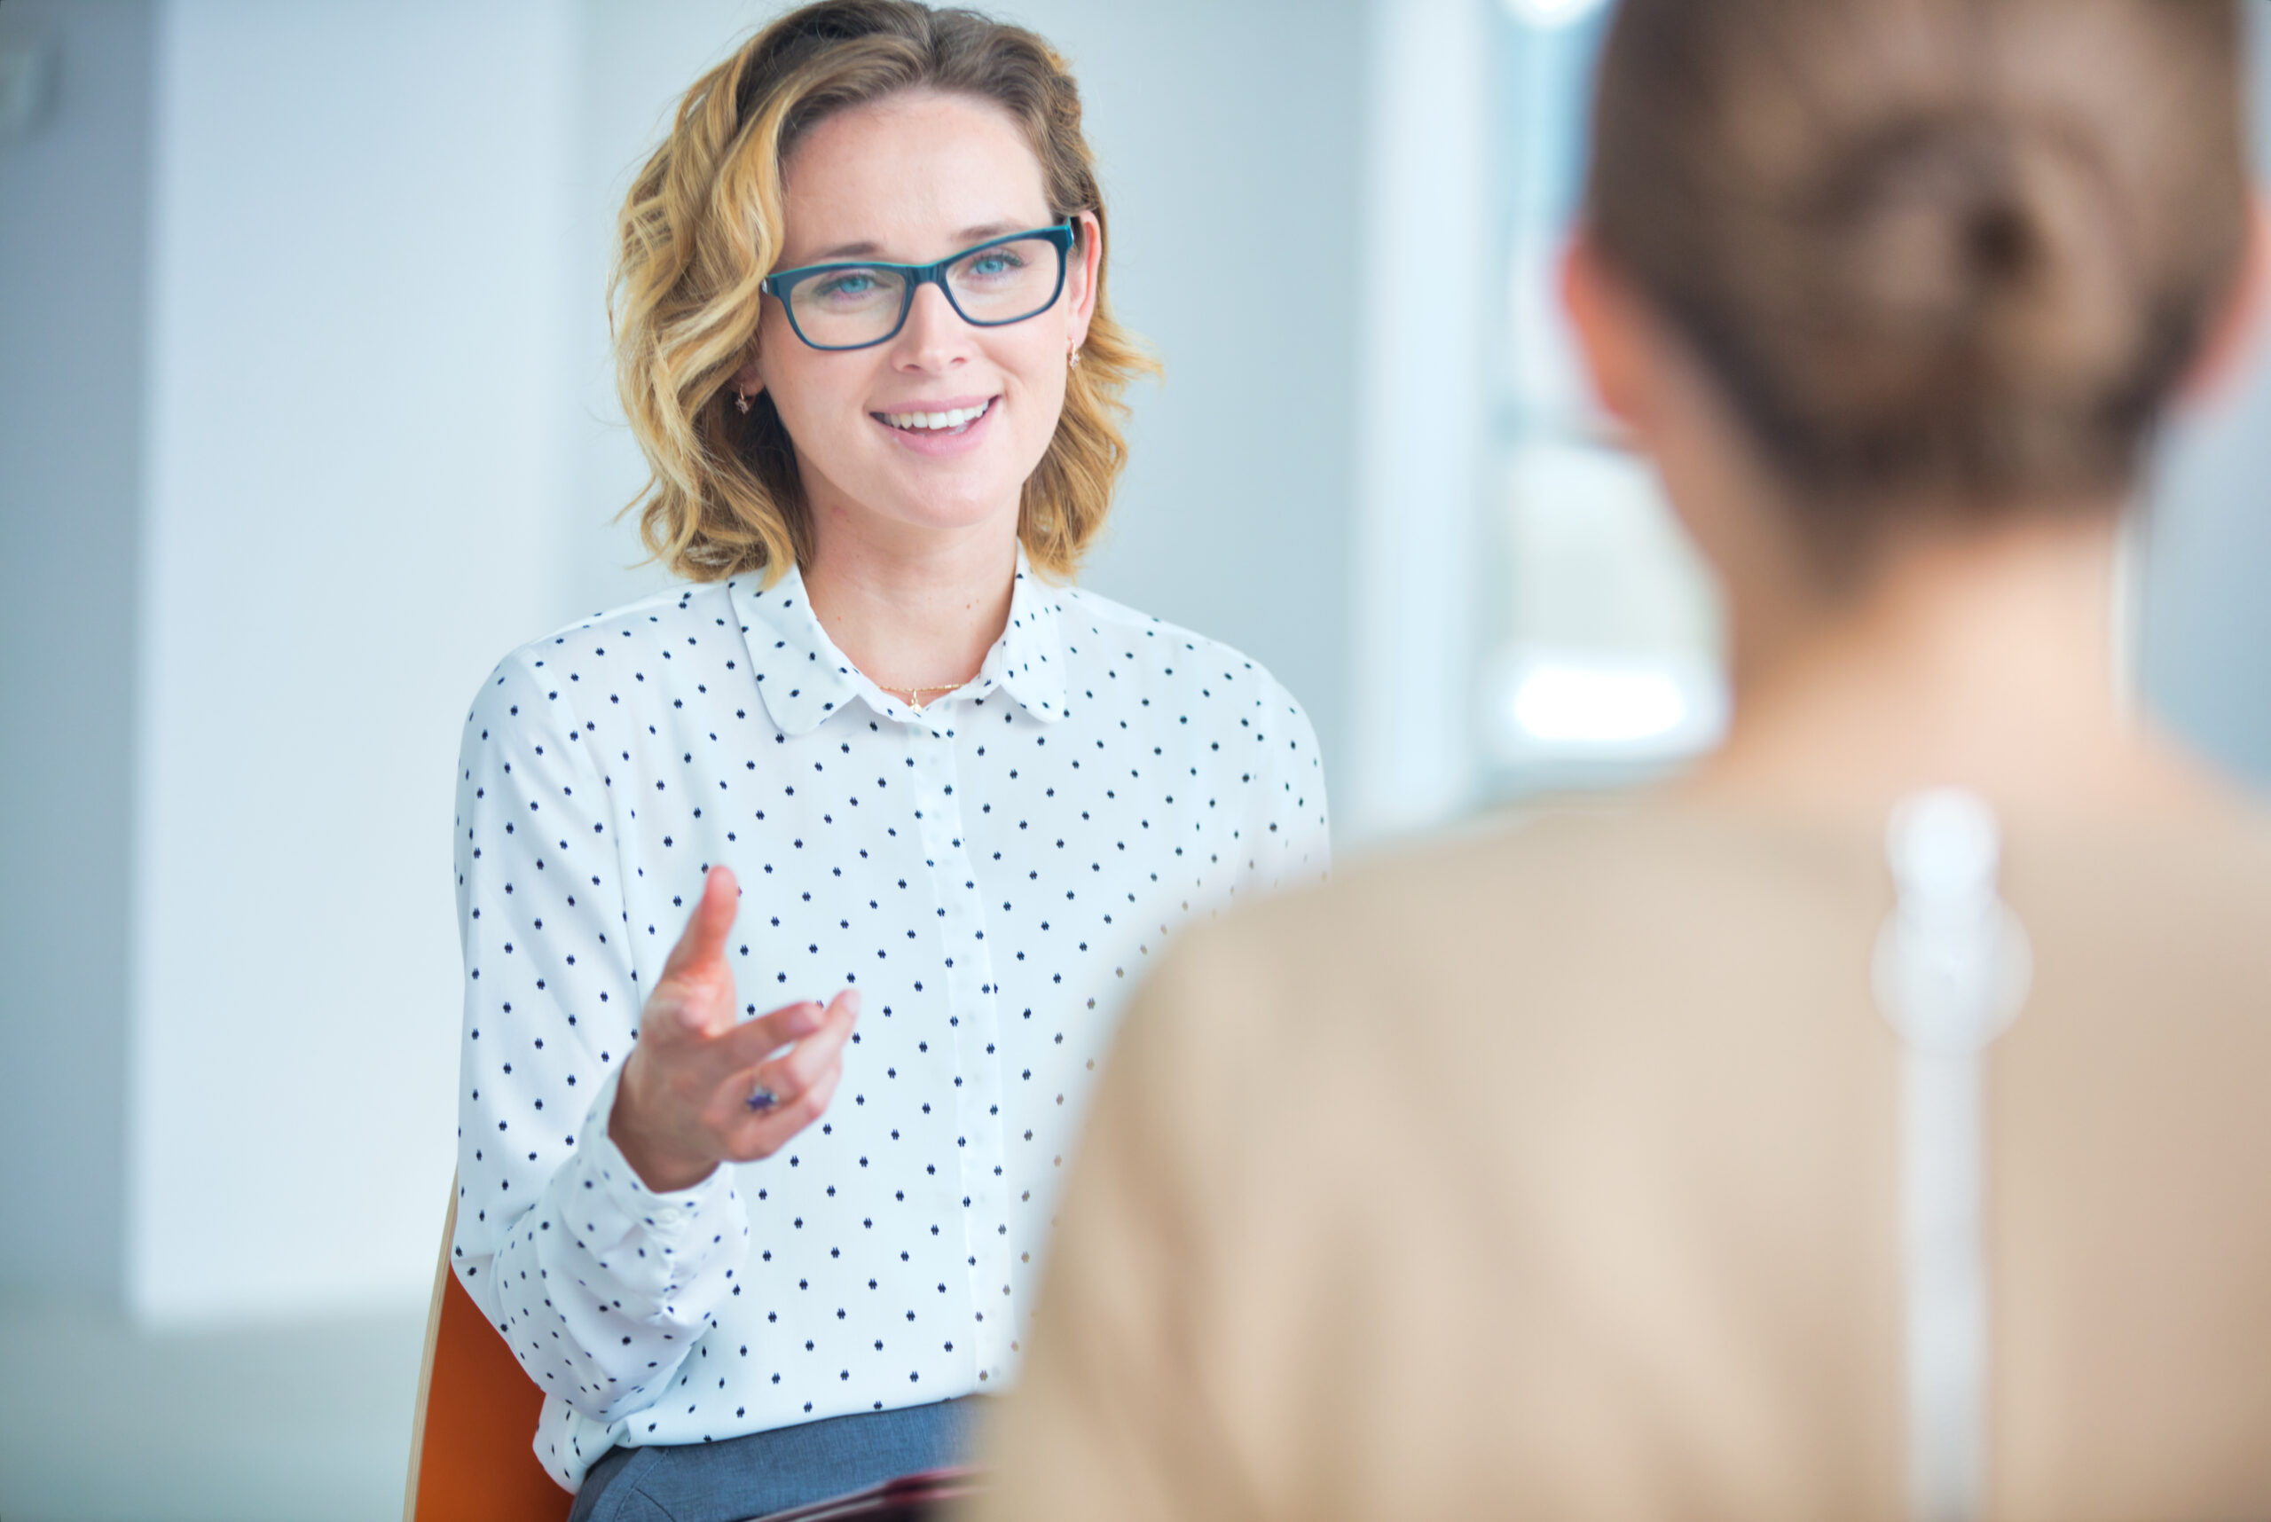
[[643, 1004], [597, 729], [540, 654], [466, 722], [459, 1213], [450, 1261], [529, 1377], [590, 1422], [654, 1404], [747, 1252], [731, 1170], [656, 1195], [606, 1136]]

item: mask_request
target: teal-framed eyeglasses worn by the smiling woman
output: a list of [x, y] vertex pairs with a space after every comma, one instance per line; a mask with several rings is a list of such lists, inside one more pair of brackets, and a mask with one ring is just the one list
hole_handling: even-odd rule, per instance
[[938, 264], [808, 264], [768, 275], [788, 325], [815, 350], [865, 350], [906, 327], [915, 291], [933, 284], [972, 327], [1008, 327], [1038, 318], [1065, 291], [1065, 252], [1079, 239], [1067, 218], [1056, 227], [1013, 232], [965, 248]]

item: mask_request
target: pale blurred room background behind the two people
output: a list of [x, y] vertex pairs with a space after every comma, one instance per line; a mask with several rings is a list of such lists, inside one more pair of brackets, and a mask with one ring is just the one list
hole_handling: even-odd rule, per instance
[[[615, 204], [761, 0], [0, 0], [0, 1517], [393, 1517], [459, 722], [663, 584]], [[1712, 588], [1551, 268], [1606, 7], [1011, 0], [1167, 361], [1086, 582], [1308, 706], [1363, 850], [1678, 768]], [[2248, 64], [2271, 91], [2271, 50]], [[2171, 436], [2142, 702], [2271, 786], [2271, 366]]]

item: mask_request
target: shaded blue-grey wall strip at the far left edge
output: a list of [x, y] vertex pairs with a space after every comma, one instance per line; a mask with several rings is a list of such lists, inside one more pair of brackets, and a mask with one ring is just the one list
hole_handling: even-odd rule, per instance
[[[9, 0], [0, 141], [0, 1283], [114, 1297], [152, 5]], [[20, 1229], [39, 1222], [39, 1229]]]

